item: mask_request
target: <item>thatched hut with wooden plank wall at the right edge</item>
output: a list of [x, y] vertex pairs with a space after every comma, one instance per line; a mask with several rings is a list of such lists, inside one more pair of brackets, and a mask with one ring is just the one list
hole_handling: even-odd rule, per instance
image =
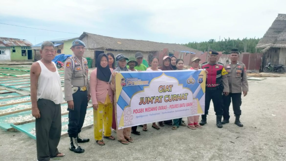
[[286, 65], [286, 14], [278, 14], [256, 48], [263, 49], [264, 65], [268, 62]]

